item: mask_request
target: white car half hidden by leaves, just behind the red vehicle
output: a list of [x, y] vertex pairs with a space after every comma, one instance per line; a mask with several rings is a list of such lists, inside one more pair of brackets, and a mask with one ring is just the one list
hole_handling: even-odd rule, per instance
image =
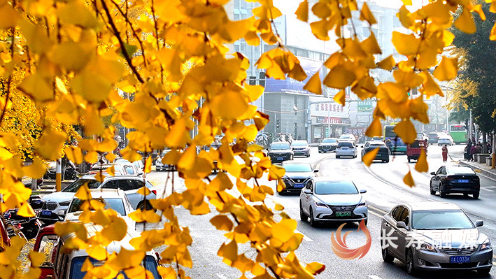
[[[134, 209], [127, 199], [127, 195], [122, 189], [90, 189], [92, 199], [104, 203], [105, 209], [113, 209], [117, 212], [127, 223], [128, 229], [136, 229], [136, 222], [132, 220], [129, 213]], [[69, 208], [67, 209], [64, 221], [77, 221], [79, 216], [83, 213], [83, 203], [85, 201], [73, 196]]]

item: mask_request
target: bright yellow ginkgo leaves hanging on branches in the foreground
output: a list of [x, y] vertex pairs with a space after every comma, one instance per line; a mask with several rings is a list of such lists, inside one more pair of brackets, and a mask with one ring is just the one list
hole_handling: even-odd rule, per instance
[[[176, 206], [187, 208], [192, 215], [204, 215], [210, 212], [210, 206], [215, 208], [211, 224], [227, 231], [228, 238], [218, 255], [225, 264], [239, 269], [242, 278], [245, 274], [256, 278], [312, 278], [325, 268], [318, 263], [299, 262], [295, 250], [303, 236], [295, 232], [296, 221], [283, 212], [282, 206], [271, 208], [265, 202], [274, 190], [262, 185], [260, 178], [267, 175], [269, 180], [277, 181], [281, 190], [284, 170], [271, 165], [260, 146], [250, 144], [269, 121], [253, 106], [264, 88], [246, 83], [248, 59], [239, 52], [228, 54], [225, 44], [243, 38], [250, 45], [259, 45], [261, 40], [276, 45], [257, 61], [257, 67], [265, 69], [267, 77], [304, 80], [306, 73], [278, 37], [274, 19], [281, 12], [271, 0], [257, 0], [260, 6], [253, 9], [253, 17], [240, 21], [229, 20], [224, 8], [227, 2], [0, 0], [0, 74], [6, 80], [1, 109], [5, 111], [11, 94], [20, 90], [36, 108], [45, 109], [45, 117], [55, 120], [41, 126], [34, 142], [36, 157], [60, 157], [68, 134], [57, 129], [56, 123], [78, 124], [92, 138], [66, 147], [65, 153], [76, 164], [83, 159], [97, 162], [99, 153], [116, 147], [114, 126], [102, 122], [102, 118], [112, 115], [113, 124], [133, 129], [127, 136], [129, 145], [121, 151], [125, 159], [133, 162], [141, 159], [139, 152], [171, 148], [163, 162], [176, 166], [187, 187], [185, 192], [150, 201], [167, 221], [162, 229], [143, 231], [134, 238], [134, 251], [108, 255], [105, 246], [122, 239], [127, 228], [122, 218], [99, 203], [87, 203], [80, 218], [82, 222], [101, 225], [103, 229], [94, 237], [87, 238], [81, 223], [58, 223], [57, 234], [75, 233], [67, 249], [85, 248], [94, 259], [105, 260], [101, 266], [87, 261], [87, 278], [114, 278], [120, 270], [143, 275], [140, 259], [145, 251], [160, 245], [167, 247], [162, 252], [162, 277], [187, 278], [185, 268], [194, 261], [188, 252], [192, 238], [187, 227], [180, 227]], [[369, 27], [376, 24], [367, 3], [359, 7], [355, 0], [330, 0], [310, 7], [304, 0], [295, 13], [299, 20], [308, 22], [313, 12], [313, 18], [318, 18], [308, 22], [313, 35], [326, 41], [336, 36], [340, 46], [324, 63], [330, 70], [324, 80], [316, 74], [305, 89], [320, 94], [323, 85], [336, 88], [340, 91], [334, 99], [342, 105], [347, 88], [360, 99], [375, 97], [377, 106], [367, 135], [380, 136], [380, 120], [393, 117], [400, 120], [397, 134], [411, 143], [416, 138], [411, 120], [429, 122], [424, 98], [442, 96], [436, 80], [451, 80], [457, 74], [456, 59], [437, 59], [453, 41], [447, 28], [454, 24], [464, 32], [474, 33], [472, 12], [481, 17], [483, 12], [470, 1], [430, 1], [413, 12], [406, 8], [411, 1], [403, 2], [405, 6], [399, 9], [398, 17], [409, 31], [392, 34], [392, 44], [405, 57], [399, 62], [392, 57], [374, 59], [381, 49], [372, 31], [363, 41], [356, 34], [341, 33], [341, 27], [352, 17]], [[457, 9], [462, 10], [461, 15], [453, 20]], [[434, 66], [437, 69], [431, 74], [428, 70]], [[387, 71], [394, 68], [395, 81], [376, 85], [370, 75], [376, 67]], [[18, 85], [13, 83], [15, 71], [25, 75]], [[414, 87], [420, 88], [420, 94], [411, 99], [408, 92]], [[134, 98], [124, 98], [122, 92]], [[197, 147], [209, 145], [220, 134], [224, 135], [220, 148], [197, 152]], [[18, 178], [42, 176], [44, 166], [41, 160], [27, 167], [13, 162], [11, 150], [17, 141], [12, 134], [2, 134], [0, 144], [1, 209], [18, 207], [18, 214], [33, 215], [26, 202], [30, 190], [18, 183]], [[213, 162], [226, 173], [210, 180], [206, 177]], [[148, 173], [150, 167], [148, 157], [144, 170]], [[420, 159], [416, 169], [427, 171], [426, 160]], [[414, 185], [411, 173], [404, 181]], [[241, 194], [229, 192], [232, 188]], [[146, 191], [143, 188], [141, 193], [147, 194]], [[76, 196], [90, 199], [86, 186]], [[131, 217], [136, 222], [161, 219], [153, 210], [136, 210]], [[256, 256], [239, 253], [239, 243], [249, 243]], [[15, 238], [0, 254], [6, 259], [1, 263], [4, 276], [19, 276], [15, 255], [22, 244]], [[38, 278], [40, 257], [31, 252], [27, 278]]]

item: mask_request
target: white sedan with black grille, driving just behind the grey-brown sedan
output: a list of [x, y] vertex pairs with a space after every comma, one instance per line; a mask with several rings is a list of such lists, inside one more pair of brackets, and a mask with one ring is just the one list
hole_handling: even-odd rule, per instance
[[299, 216], [310, 218], [310, 225], [318, 222], [360, 222], [367, 225], [368, 206], [364, 194], [350, 180], [333, 180], [330, 177], [312, 178], [299, 195]]

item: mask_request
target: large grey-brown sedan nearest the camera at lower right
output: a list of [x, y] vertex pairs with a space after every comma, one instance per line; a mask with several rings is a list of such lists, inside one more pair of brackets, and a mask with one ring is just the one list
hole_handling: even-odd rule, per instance
[[407, 273], [476, 270], [488, 274], [493, 248], [467, 213], [453, 203], [420, 201], [393, 207], [381, 221], [381, 250], [385, 262], [395, 258]]

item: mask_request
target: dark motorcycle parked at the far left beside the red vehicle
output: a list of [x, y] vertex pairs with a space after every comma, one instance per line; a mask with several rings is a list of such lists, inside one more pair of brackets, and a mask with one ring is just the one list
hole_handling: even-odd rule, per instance
[[7, 231], [10, 236], [15, 236], [17, 231], [27, 238], [35, 238], [41, 229], [41, 222], [38, 217], [24, 217], [17, 215], [17, 209], [10, 209], [3, 213], [3, 220], [7, 225]]

